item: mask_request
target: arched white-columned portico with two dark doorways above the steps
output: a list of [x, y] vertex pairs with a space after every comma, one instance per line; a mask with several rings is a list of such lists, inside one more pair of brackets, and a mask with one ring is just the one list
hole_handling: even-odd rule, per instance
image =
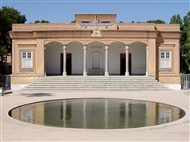
[[[129, 49], [129, 46], [131, 46], [132, 49]], [[47, 57], [47, 59], [45, 59], [44, 75], [59, 74], [67, 76], [67, 67], [71, 68], [69, 69], [71, 70], [70, 75], [148, 75], [148, 58], [146, 58], [148, 51], [145, 51], [145, 46], [147, 48], [147, 45], [141, 42], [134, 42], [131, 45], [126, 45], [122, 42], [113, 42], [109, 45], [105, 45], [97, 41], [90, 42], [87, 45], [80, 42], [70, 42], [67, 45], [51, 42], [46, 45], [48, 49], [44, 48], [44, 55]], [[141, 49], [139, 50], [138, 48]], [[57, 61], [51, 62], [53, 51], [55, 58], [57, 57]], [[70, 60], [67, 58], [68, 54], [72, 56], [73, 60], [70, 65], [67, 65], [67, 60]], [[134, 56], [134, 58], [130, 59], [133, 64], [129, 63], [129, 54], [130, 56]], [[121, 55], [124, 57], [121, 57]], [[135, 59], [135, 56], [138, 56], [138, 60], [143, 60], [141, 61], [142, 63], [139, 63], [141, 64], [141, 69], [138, 69], [137, 64], [139, 61]], [[121, 58], [124, 58], [125, 61], [121, 61]], [[60, 65], [54, 67], [55, 63], [58, 63], [59, 60]], [[54, 70], [50, 70], [50, 68]], [[56, 68], [57, 71], [55, 71]], [[129, 68], [132, 68], [130, 73]], [[121, 70], [124, 70], [124, 74], [121, 73]]]

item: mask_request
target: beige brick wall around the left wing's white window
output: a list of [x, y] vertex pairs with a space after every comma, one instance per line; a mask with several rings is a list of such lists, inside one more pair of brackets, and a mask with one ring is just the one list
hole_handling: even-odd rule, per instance
[[[12, 44], [12, 84], [29, 84], [44, 75], [44, 40], [18, 39]], [[21, 51], [33, 51], [33, 72], [21, 72]]]

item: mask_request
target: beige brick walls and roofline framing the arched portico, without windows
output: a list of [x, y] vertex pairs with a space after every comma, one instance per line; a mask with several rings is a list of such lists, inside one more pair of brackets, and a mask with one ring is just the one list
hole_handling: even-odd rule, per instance
[[[95, 15], [76, 14], [75, 16], [77, 22], [81, 22], [81, 20], [94, 22]], [[178, 24], [119, 24], [115, 23], [116, 14], [99, 14], [98, 17], [99, 20], [113, 23], [113, 26], [108, 29], [103, 26], [99, 28], [100, 37], [92, 36], [92, 29], [85, 29], [77, 23], [13, 24], [10, 32], [13, 41], [12, 83], [29, 84], [36, 77], [45, 75], [44, 46], [49, 42], [55, 41], [67, 45], [70, 42], [78, 41], [88, 46], [92, 42], [102, 42], [104, 45], [110, 45], [113, 41], [118, 41], [122, 42], [124, 46], [130, 46], [133, 42], [143, 42], [148, 45], [148, 75], [155, 76], [164, 84], [180, 84], [179, 40], [181, 31]], [[33, 51], [33, 72], [21, 72], [20, 52], [22, 50]], [[160, 50], [172, 51], [172, 67], [170, 69], [160, 69]], [[83, 53], [83, 51], [80, 53]], [[172, 70], [172, 72], [159, 72], [159, 70]]]

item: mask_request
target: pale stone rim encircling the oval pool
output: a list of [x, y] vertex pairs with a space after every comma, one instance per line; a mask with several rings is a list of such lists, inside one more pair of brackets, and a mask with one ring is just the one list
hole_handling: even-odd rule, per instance
[[[172, 107], [176, 107], [179, 109], [182, 109], [185, 113], [185, 115], [175, 121], [169, 122], [169, 123], [164, 123], [164, 124], [158, 124], [158, 125], [152, 125], [152, 126], [143, 126], [143, 127], [137, 127], [137, 128], [117, 128], [117, 129], [91, 129], [91, 128], [67, 128], [67, 127], [53, 127], [53, 126], [48, 126], [48, 125], [39, 125], [39, 124], [32, 124], [32, 123], [27, 123], [27, 122], [23, 122], [21, 120], [15, 119], [13, 117], [11, 117], [9, 115], [9, 112], [15, 108], [21, 107], [21, 106], [26, 106], [26, 105], [31, 105], [31, 104], [35, 104], [35, 103], [41, 103], [41, 102], [50, 102], [50, 101], [58, 101], [58, 100], [73, 100], [73, 99], [120, 99], [120, 100], [134, 100], [134, 101], [145, 101], [145, 102], [153, 102], [153, 103], [160, 103], [160, 104], [164, 104], [164, 105], [169, 105]], [[79, 130], [79, 131], [128, 131], [128, 130], [150, 130], [150, 129], [159, 129], [159, 128], [163, 128], [163, 127], [169, 127], [169, 126], [173, 126], [173, 125], [177, 125], [180, 123], [184, 123], [185, 121], [188, 121], [188, 115], [190, 114], [190, 110], [176, 105], [176, 104], [170, 104], [167, 102], [161, 102], [161, 101], [157, 101], [157, 100], [152, 100], [152, 99], [135, 99], [135, 98], [123, 98], [123, 97], [65, 97], [65, 98], [55, 98], [55, 99], [44, 99], [44, 100], [34, 100], [34, 101], [29, 101], [21, 103], [21, 104], [17, 104], [15, 106], [12, 106], [10, 108], [7, 108], [5, 110], [6, 113], [6, 118], [8, 118], [9, 121], [11, 121], [12, 123], [16, 123], [22, 126], [29, 126], [29, 127], [39, 127], [39, 128], [47, 128], [47, 129], [64, 129], [64, 130]], [[3, 111], [2, 111], [3, 114]], [[5, 115], [4, 115], [5, 116]]]

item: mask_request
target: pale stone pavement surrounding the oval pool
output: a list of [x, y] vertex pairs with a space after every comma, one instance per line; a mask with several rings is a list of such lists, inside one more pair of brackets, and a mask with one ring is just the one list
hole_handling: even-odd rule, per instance
[[[175, 122], [144, 128], [82, 130], [33, 125], [15, 120], [8, 111], [22, 104], [64, 98], [125, 98], [178, 106], [186, 115]], [[190, 141], [189, 91], [156, 92], [14, 92], [0, 96], [0, 141]]]

